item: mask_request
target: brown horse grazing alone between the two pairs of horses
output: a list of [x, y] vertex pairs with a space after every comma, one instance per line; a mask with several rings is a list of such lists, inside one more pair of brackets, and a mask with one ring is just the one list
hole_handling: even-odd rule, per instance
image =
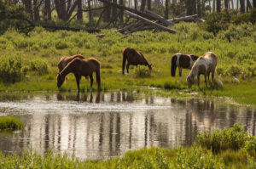
[[129, 73], [130, 65], [148, 65], [148, 69], [152, 70], [152, 64], [148, 64], [148, 61], [144, 58], [143, 54], [140, 51], [135, 50], [134, 48], [128, 47], [123, 50], [123, 65], [122, 72], [125, 74], [125, 62], [127, 59], [126, 70]]

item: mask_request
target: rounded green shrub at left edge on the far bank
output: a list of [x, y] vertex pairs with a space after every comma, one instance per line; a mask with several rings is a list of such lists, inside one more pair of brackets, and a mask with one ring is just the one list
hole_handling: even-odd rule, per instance
[[22, 73], [22, 62], [20, 57], [6, 56], [0, 57], [0, 78], [5, 82], [19, 82]]

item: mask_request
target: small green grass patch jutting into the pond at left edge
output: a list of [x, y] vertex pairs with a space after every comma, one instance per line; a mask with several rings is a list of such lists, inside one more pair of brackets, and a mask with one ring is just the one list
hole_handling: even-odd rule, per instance
[[21, 129], [22, 122], [20, 119], [12, 116], [0, 116], [0, 130], [10, 129], [16, 130]]

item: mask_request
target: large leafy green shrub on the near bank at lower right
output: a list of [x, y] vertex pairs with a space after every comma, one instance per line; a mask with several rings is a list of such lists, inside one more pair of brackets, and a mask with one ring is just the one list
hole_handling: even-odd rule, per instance
[[243, 127], [234, 124], [230, 129], [198, 132], [197, 138], [202, 147], [218, 153], [220, 150], [243, 148], [247, 141], [247, 132]]

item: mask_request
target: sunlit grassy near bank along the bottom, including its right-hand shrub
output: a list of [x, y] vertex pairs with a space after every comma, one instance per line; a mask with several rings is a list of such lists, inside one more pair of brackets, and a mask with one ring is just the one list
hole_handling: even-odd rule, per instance
[[242, 127], [202, 132], [198, 144], [177, 149], [150, 148], [126, 152], [109, 160], [83, 161], [67, 155], [0, 153], [1, 168], [255, 168], [256, 138]]

